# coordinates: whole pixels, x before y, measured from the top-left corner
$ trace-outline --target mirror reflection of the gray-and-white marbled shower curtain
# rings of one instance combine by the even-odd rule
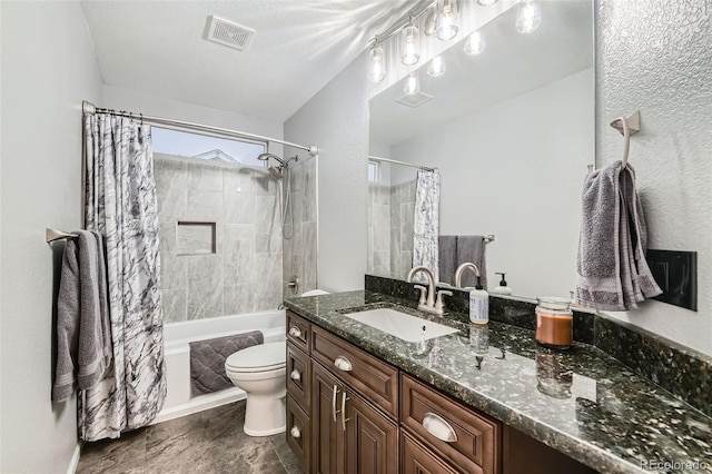
[[[437,236],[439,235],[441,175],[419,170],[415,187],[413,219],[413,266],[428,267],[438,280]],[[416,275],[416,279],[422,274]]]

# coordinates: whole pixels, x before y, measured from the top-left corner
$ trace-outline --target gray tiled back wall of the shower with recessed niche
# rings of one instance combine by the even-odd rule
[[[165,320],[277,308],[278,182],[266,169],[219,161],[154,154],[154,166]]]

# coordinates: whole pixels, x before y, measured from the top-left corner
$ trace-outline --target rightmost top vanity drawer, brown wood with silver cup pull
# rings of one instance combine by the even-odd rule
[[[400,377],[400,422],[435,452],[464,472],[501,472],[500,422],[475,413],[407,375]],[[425,428],[424,419],[439,436]],[[448,435],[451,440],[444,441]]]

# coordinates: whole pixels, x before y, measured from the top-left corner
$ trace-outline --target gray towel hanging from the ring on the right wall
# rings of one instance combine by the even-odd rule
[[[647,228],[631,165],[615,161],[584,182],[576,303],[629,310],[662,293],[645,261]]]

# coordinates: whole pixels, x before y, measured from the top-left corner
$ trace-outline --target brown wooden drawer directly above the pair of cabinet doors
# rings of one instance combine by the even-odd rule
[[[384,412],[398,416],[398,369],[317,326],[312,327],[312,356]]]

